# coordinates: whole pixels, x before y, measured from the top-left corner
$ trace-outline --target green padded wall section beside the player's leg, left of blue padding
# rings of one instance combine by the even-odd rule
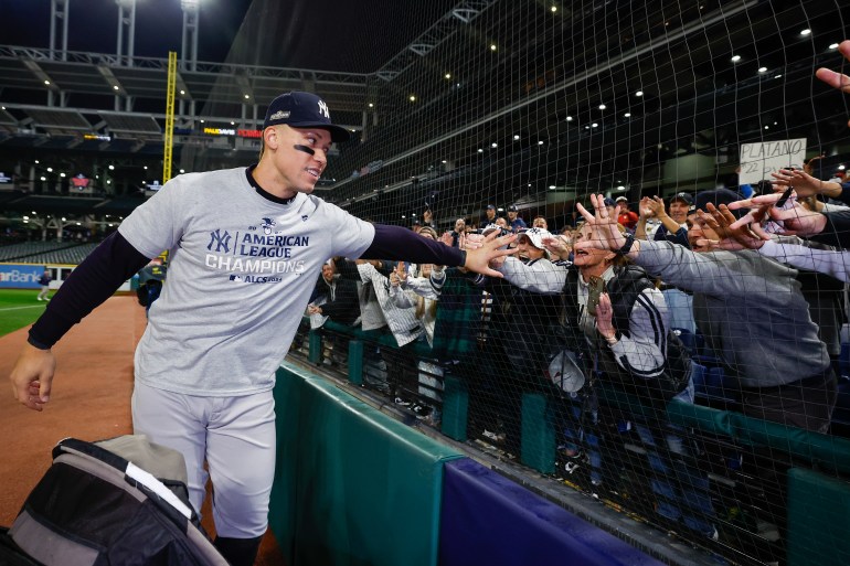
[[[275,403],[287,566],[436,565],[443,463],[463,455],[286,362]]]

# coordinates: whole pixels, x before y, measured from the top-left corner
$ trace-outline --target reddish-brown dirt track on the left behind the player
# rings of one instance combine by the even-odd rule
[[[63,438],[86,440],[130,434],[132,353],[145,331],[145,309],[135,296],[115,296],[55,346],[60,357],[51,403],[42,414],[21,407],[7,389],[0,395],[3,466],[0,467],[0,525],[11,525],[26,495],[52,463]],[[28,329],[0,338],[0,374],[9,375]],[[203,526],[214,533],[210,498]],[[280,566],[284,557],[269,531],[257,566]]]

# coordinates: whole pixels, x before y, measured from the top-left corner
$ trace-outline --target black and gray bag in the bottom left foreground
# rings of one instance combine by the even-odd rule
[[[8,534],[45,566],[227,566],[185,482],[183,456],[144,435],[67,438]]]

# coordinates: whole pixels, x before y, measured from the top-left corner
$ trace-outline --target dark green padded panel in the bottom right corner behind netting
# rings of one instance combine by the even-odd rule
[[[788,566],[850,564],[850,484],[788,470]]]

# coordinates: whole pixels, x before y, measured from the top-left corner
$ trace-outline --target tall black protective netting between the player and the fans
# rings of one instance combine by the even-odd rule
[[[360,325],[331,317],[323,345],[315,330],[295,348],[730,563],[824,560],[800,528],[847,488],[846,286],[677,231],[694,205],[773,193],[780,168],[842,180],[847,98],[814,73],[841,68],[844,23],[838,2],[461,2],[370,77],[360,116],[331,108],[357,131],[318,193],[447,243],[501,217],[564,249],[527,232],[502,280],[337,258],[332,309],[348,293]],[[597,237],[575,229],[591,193],[625,197],[638,238],[695,253],[573,249]],[[841,488],[801,490],[809,470]]]

